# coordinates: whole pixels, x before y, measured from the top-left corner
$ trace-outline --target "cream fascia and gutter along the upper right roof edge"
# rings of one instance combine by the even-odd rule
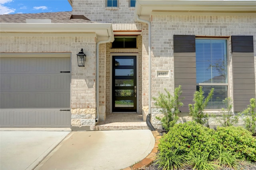
[[[256,0],[137,0],[134,20],[149,21],[152,12],[256,14]]]

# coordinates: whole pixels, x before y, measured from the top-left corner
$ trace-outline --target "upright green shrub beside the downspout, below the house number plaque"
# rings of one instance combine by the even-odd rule
[[[183,106],[183,103],[179,99],[179,96],[182,94],[182,90],[181,86],[175,88],[174,96],[172,96],[166,89],[164,90],[167,95],[159,93],[159,97],[153,99],[156,101],[155,105],[161,108],[160,111],[164,115],[164,117],[156,117],[156,119],[161,121],[162,126],[166,131],[169,131],[170,127],[177,123],[179,119],[179,107]]]

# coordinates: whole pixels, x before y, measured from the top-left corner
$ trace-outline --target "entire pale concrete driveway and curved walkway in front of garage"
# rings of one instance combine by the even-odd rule
[[[120,170],[145,158],[155,143],[148,129],[0,131],[0,137],[1,170]]]

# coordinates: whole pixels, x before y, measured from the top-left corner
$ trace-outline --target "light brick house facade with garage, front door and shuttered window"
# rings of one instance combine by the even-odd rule
[[[1,16],[1,127],[95,130],[111,113],[159,127],[153,98],[179,85],[181,121],[199,86],[214,88],[209,113],[227,97],[234,113],[255,98],[256,1],[69,2],[55,17]]]

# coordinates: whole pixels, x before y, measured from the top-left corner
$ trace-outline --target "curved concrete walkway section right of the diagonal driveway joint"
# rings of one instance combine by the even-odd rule
[[[152,151],[150,130],[70,133],[35,170],[120,170]]]

